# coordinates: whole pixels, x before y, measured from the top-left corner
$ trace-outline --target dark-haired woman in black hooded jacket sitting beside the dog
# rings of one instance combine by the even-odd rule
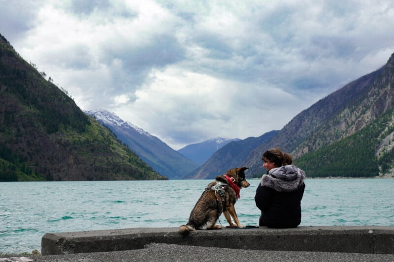
[[[265,151],[262,160],[267,175],[263,175],[255,196],[262,211],[259,226],[296,228],[301,223],[305,173],[292,165],[290,154],[278,148]]]

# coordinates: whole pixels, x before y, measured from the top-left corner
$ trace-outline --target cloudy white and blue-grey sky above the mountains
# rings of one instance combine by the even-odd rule
[[[394,53],[393,0],[0,0],[0,33],[83,110],[174,149],[261,136]]]

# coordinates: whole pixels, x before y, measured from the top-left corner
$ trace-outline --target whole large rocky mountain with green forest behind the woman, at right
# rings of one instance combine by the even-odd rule
[[[394,54],[295,116],[270,142],[243,162],[263,173],[261,154],[281,147],[309,176],[375,176],[393,173]]]

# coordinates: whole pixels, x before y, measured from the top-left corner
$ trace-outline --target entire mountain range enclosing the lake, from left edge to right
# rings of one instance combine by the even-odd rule
[[[105,110],[87,111],[0,35],[0,181],[211,179],[265,173],[271,147],[308,177],[394,177],[394,54],[259,137],[213,138],[178,151]]]

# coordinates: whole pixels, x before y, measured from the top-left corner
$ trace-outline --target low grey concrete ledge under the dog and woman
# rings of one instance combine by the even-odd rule
[[[42,255],[142,249],[150,243],[271,251],[394,254],[394,227],[298,227],[296,229],[221,229],[193,231],[183,237],[178,228],[131,228],[46,233]]]

